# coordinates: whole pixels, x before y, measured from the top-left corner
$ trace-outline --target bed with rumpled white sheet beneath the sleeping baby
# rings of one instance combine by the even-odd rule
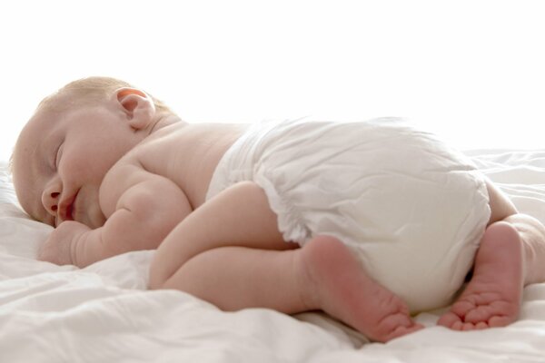
[[[545,150],[467,153],[520,211],[545,222]],[[153,251],[82,270],[35,260],[50,231],[21,211],[1,163],[2,362],[545,362],[545,283],[524,290],[507,328],[451,331],[435,326],[437,310],[416,317],[427,329],[379,344],[318,312],[227,313],[180,291],[146,290]]]

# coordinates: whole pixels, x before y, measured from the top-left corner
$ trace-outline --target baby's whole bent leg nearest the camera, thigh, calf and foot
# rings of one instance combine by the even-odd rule
[[[421,328],[338,240],[287,246],[263,190],[239,183],[169,234],[154,257],[150,285],[187,291],[221,309],[322,309],[379,341]]]

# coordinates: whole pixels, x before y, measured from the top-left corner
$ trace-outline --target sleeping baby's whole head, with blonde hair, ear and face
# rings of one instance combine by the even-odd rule
[[[129,83],[91,77],[47,96],[15,144],[12,171],[21,206],[56,225],[104,224],[98,191],[104,175],[151,132],[179,120]]]

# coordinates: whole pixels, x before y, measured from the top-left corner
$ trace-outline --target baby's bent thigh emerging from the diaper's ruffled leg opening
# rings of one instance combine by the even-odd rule
[[[239,182],[220,192],[179,223],[154,256],[150,285],[157,289],[194,256],[222,247],[288,250],[276,214],[261,187]]]

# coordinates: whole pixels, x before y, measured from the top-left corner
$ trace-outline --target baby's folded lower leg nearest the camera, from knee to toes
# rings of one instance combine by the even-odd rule
[[[223,310],[323,310],[375,341],[421,329],[406,305],[371,280],[350,251],[320,236],[297,250],[222,247],[188,260],[166,280]]]

